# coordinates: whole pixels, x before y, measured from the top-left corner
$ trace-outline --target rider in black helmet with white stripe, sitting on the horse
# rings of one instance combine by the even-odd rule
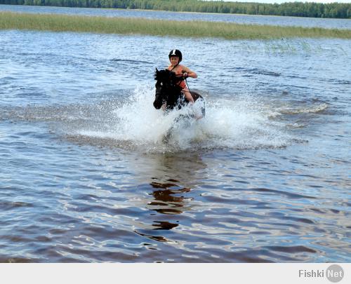
[[[185,79],[187,79],[187,77],[197,78],[197,74],[195,72],[192,72],[192,70],[190,70],[186,66],[179,64],[183,59],[180,50],[171,50],[171,52],[168,54],[168,58],[169,62],[171,62],[171,64],[167,67],[168,70],[173,71],[174,73],[176,73],[177,76],[184,77]],[[187,98],[187,100],[190,102],[190,104],[193,104],[194,99],[190,94],[190,90],[187,88],[185,80],[180,81],[178,84],[181,88],[183,88],[182,92]]]

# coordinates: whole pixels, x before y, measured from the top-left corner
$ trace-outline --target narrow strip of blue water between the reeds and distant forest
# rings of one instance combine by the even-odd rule
[[[324,27],[327,29],[351,29],[351,19],[322,19],[219,13],[179,13],[170,11],[140,11],[129,9],[69,8],[22,5],[0,5],[0,11],[12,11],[17,13],[93,15],[103,17],[132,17],[161,20],[201,20],[211,22],[237,22],[239,24],[246,25],[279,25],[298,27]]]

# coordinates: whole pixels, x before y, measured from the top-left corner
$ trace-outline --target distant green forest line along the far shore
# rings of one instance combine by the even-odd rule
[[[343,3],[262,4],[198,0],[0,0],[0,4],[351,18],[351,4]]]

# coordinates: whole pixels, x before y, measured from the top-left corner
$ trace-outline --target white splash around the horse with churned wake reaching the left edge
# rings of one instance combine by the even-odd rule
[[[143,86],[94,104],[12,107],[4,109],[0,119],[44,122],[51,133],[78,144],[145,153],[286,147],[295,141],[286,133],[291,121],[282,119],[284,111],[277,102],[250,95],[206,95],[203,119],[179,119],[201,114],[203,104],[195,102],[165,115],[153,107],[154,92]]]

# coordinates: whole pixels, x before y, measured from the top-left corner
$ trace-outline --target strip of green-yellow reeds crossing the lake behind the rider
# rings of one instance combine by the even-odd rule
[[[155,36],[218,37],[224,39],[280,39],[329,37],[351,39],[351,30],[239,25],[225,22],[168,21],[140,18],[105,18],[78,15],[0,13],[0,29]]]

